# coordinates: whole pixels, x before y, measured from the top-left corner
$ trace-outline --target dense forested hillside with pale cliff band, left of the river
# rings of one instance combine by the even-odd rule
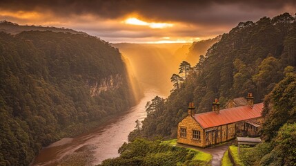
[[[0,165],[95,127],[135,100],[117,48],[84,34],[0,32]]]

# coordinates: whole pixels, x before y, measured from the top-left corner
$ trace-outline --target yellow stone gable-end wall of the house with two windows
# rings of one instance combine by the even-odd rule
[[[181,127],[186,128],[186,138],[180,136]],[[200,131],[200,140],[193,139],[193,130]],[[204,147],[204,130],[201,129],[199,124],[193,119],[192,116],[187,116],[186,118],[181,120],[181,122],[179,122],[177,129],[177,142],[186,145]]]

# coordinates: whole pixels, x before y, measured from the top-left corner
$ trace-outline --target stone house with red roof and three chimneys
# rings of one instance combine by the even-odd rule
[[[254,104],[252,93],[248,93],[246,101],[246,105],[220,110],[216,99],[212,111],[197,114],[193,103],[189,103],[188,116],[178,123],[177,142],[208,147],[236,136],[259,136],[264,105]]]

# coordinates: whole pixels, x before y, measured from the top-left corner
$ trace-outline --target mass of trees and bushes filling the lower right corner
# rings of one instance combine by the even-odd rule
[[[285,69],[286,77],[264,101],[265,143],[241,154],[246,165],[295,165],[296,164],[296,73]]]

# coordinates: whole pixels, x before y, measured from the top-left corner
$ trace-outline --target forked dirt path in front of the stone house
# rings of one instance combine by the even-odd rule
[[[221,160],[223,158],[223,155],[224,155],[225,151],[232,144],[233,144],[233,141],[230,141],[230,142],[226,142],[223,145],[216,145],[216,146],[213,146],[213,147],[207,147],[205,149],[200,148],[200,147],[193,147],[193,146],[189,146],[189,145],[181,145],[181,144],[178,144],[177,146],[190,147],[190,148],[197,149],[199,151],[204,151],[205,153],[211,154],[213,156],[213,158],[211,160],[211,164],[213,166],[220,166],[221,165]]]

